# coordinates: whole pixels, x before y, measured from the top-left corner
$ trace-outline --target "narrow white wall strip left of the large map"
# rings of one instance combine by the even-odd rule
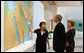
[[[1,51],[4,51],[4,1],[1,1]]]

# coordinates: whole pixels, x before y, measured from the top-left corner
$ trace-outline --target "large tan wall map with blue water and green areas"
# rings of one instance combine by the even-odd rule
[[[32,27],[31,1],[4,1],[4,51],[32,39],[27,20]]]

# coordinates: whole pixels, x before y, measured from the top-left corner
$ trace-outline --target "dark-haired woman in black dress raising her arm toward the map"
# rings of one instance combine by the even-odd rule
[[[45,30],[46,23],[41,22],[39,25],[40,29],[32,30],[29,20],[27,22],[29,24],[30,32],[37,34],[36,52],[46,52],[46,47],[47,47],[46,42],[48,43],[48,49],[50,49],[49,39],[48,39],[48,31]]]

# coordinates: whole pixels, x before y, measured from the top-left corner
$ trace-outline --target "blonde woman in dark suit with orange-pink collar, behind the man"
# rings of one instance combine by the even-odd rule
[[[75,24],[75,22],[73,20],[69,20],[68,21],[69,29],[67,30],[67,33],[66,33],[66,52],[74,52],[74,48],[75,48],[75,41],[74,41],[75,29],[74,29],[74,24]]]

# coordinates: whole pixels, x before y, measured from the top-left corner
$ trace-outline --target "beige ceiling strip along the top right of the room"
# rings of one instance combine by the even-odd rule
[[[71,7],[71,6],[83,6],[83,1],[41,1],[47,6],[57,6],[57,7]]]

